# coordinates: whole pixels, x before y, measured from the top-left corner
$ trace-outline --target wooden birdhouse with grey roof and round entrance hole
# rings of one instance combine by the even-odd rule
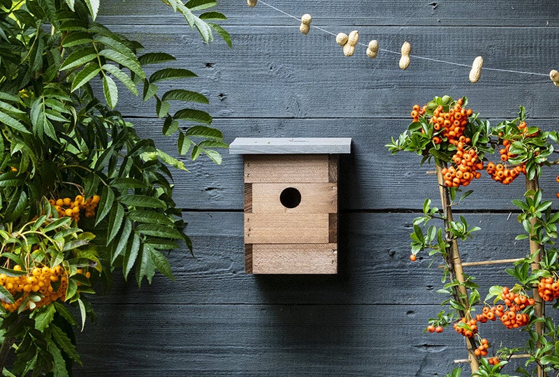
[[[237,138],[245,156],[245,272],[337,273],[338,155],[350,138]]]

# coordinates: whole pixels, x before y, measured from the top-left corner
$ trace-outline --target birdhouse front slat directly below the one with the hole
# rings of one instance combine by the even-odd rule
[[[329,214],[245,214],[245,244],[328,244]]]

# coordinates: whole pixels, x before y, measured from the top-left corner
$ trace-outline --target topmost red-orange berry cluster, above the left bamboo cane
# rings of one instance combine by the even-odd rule
[[[429,119],[433,123],[433,130],[437,134],[433,137],[433,142],[438,144],[442,141],[440,135],[443,138],[447,138],[449,143],[453,145],[458,144],[458,139],[464,134],[467,125],[467,117],[472,115],[472,109],[462,108],[463,101],[462,98],[456,101],[456,104],[452,108],[449,108],[448,112],[443,111],[442,106],[438,106],[433,111],[433,117]],[[440,133],[437,131],[441,131]],[[437,138],[437,140],[435,140]]]

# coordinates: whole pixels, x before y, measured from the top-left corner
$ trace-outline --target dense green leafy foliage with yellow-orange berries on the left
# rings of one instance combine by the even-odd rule
[[[231,46],[212,22],[226,20],[208,10],[216,1],[161,1],[205,43],[213,30]],[[147,75],[146,66],[175,58],[143,53],[138,41],[95,22],[99,8],[97,0],[0,0],[2,367],[15,351],[6,375],[67,376],[80,357],[77,322],[61,302],[78,308],[83,326],[93,318],[84,294],[94,293],[95,281],[110,286],[117,268],[125,279],[133,273],[138,286],[157,271],[172,279],[166,253],[180,243],[191,248],[169,169],[186,170],[184,163],[115,110],[122,91],[155,103],[178,154],[221,163],[216,149],[227,147],[210,114],[197,108],[208,98],[159,92],[161,83],[196,74],[162,66]],[[171,103],[179,109],[171,112]]]

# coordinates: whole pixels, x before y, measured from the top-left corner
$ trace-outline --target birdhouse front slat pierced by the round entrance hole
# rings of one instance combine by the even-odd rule
[[[286,187],[295,188],[300,193],[300,204],[294,208],[285,207],[280,200],[280,195]],[[337,184],[335,183],[252,184],[250,196],[254,214],[337,212]]]

